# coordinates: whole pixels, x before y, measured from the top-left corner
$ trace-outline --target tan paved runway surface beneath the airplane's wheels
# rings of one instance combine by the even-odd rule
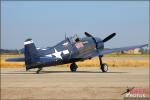
[[[123,99],[127,87],[149,88],[149,67],[1,68],[1,99]]]

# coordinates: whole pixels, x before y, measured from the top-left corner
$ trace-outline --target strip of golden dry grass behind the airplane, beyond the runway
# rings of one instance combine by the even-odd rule
[[[13,58],[13,57],[22,57],[23,55],[1,55],[1,67],[23,67],[24,62],[6,62],[5,59],[7,58]],[[135,59],[124,59],[124,60],[119,60],[119,59],[109,59],[109,57],[105,57],[107,59],[104,59],[104,63],[106,62],[110,67],[119,67],[119,66],[132,66],[132,67],[141,67],[141,66],[149,66],[149,61],[148,60],[135,60]],[[119,58],[119,57],[118,57]],[[65,64],[65,65],[60,65],[64,67],[69,67],[70,64]],[[91,60],[86,60],[83,62],[77,62],[77,65],[79,67],[98,67],[99,66],[99,59],[97,57],[91,59]]]

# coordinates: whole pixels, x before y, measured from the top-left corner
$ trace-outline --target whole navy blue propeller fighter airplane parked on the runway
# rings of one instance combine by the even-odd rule
[[[76,62],[98,56],[101,71],[107,72],[108,65],[102,62],[103,55],[148,45],[135,45],[105,50],[104,43],[113,38],[116,33],[112,33],[103,40],[92,36],[88,32],[84,34],[86,36],[84,38],[79,38],[77,35],[66,37],[65,40],[55,46],[47,48],[36,48],[32,39],[26,39],[24,41],[24,58],[9,58],[6,61],[25,61],[26,71],[38,68],[37,74],[43,67],[71,63],[70,70],[76,72],[78,68]]]

